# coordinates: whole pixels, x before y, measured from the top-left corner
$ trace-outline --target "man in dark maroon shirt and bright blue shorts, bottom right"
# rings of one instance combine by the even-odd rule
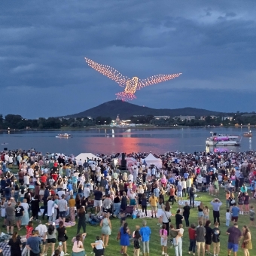
[[[233,227],[230,227],[226,233],[228,235],[227,255],[230,255],[231,250],[233,250],[233,256],[236,256],[239,247],[239,239],[242,238],[242,233],[238,228],[238,224],[233,224]]]

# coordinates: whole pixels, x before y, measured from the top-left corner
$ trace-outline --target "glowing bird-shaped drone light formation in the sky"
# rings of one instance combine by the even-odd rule
[[[159,84],[164,81],[168,81],[174,78],[178,78],[182,73],[172,74],[172,75],[154,75],[146,79],[139,79],[138,77],[128,78],[116,69],[111,68],[110,66],[105,66],[94,62],[92,59],[84,58],[88,66],[95,69],[97,72],[102,75],[107,76],[108,78],[117,82],[120,87],[125,87],[123,92],[116,93],[117,99],[123,101],[136,99],[135,93],[136,90],[140,90],[143,87],[152,84]]]

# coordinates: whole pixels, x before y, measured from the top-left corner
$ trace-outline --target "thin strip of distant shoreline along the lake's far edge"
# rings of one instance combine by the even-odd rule
[[[251,127],[255,127],[256,125],[251,125]],[[151,126],[151,125],[142,125],[142,126],[133,126],[133,127],[111,127],[111,126],[88,126],[88,127],[83,127],[83,128],[72,128],[72,127],[62,127],[59,129],[7,129],[7,130],[0,130],[1,132],[36,132],[36,131],[66,131],[66,130],[135,130],[135,129],[188,129],[188,128],[207,128],[207,129],[215,129],[215,128],[230,128],[230,127],[235,127],[235,128],[243,128],[243,127],[248,127],[248,125],[243,125],[243,126]]]

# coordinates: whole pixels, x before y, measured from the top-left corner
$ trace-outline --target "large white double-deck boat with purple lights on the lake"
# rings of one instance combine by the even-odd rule
[[[212,133],[212,136],[206,139],[206,146],[239,146],[241,144],[241,139],[239,136],[232,136],[229,134],[219,134]]]

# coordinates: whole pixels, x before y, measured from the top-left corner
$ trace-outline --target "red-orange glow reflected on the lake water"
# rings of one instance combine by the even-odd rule
[[[169,151],[175,139],[169,138],[126,138],[126,137],[87,137],[82,139],[84,152],[119,153],[149,152],[163,153]]]

